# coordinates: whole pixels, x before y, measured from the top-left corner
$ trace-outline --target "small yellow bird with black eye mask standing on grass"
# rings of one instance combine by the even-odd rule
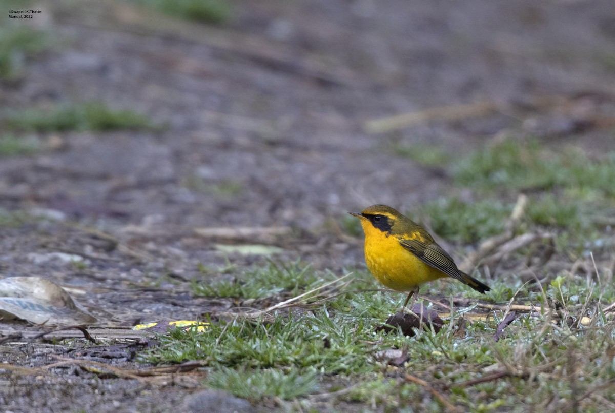
[[[372,205],[361,212],[348,212],[359,217],[365,232],[365,262],[371,274],[395,291],[410,291],[416,300],[419,285],[442,277],[453,277],[485,294],[490,287],[457,268],[425,228],[386,205]]]

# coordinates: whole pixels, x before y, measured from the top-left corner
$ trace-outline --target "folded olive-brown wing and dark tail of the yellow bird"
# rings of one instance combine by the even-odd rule
[[[446,275],[458,279],[478,292],[485,293],[485,291],[491,290],[486,284],[481,283],[474,277],[459,270],[451,256],[438,244],[432,243],[426,245],[416,239],[400,239],[399,243],[402,244],[402,247],[414,254],[416,258],[429,265],[429,267],[440,270]]]

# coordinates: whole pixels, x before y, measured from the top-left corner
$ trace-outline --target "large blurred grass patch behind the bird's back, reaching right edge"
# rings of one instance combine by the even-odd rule
[[[519,192],[530,197],[521,230],[544,228],[557,234],[559,251],[581,254],[608,237],[615,202],[615,152],[590,158],[581,148],[549,150],[536,140],[505,140],[460,159],[456,182],[481,201],[445,199],[427,207],[438,235],[475,243],[503,229]],[[607,231],[605,233],[605,231]],[[602,243],[604,244],[604,243]]]

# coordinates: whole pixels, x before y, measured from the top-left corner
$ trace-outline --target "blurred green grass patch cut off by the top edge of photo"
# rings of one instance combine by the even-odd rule
[[[150,0],[142,3],[164,14],[201,23],[224,23],[232,15],[228,0]]]

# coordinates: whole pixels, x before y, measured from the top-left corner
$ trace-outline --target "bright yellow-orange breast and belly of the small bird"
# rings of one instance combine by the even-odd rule
[[[387,236],[370,223],[363,225],[363,230],[367,268],[385,286],[396,291],[411,291],[418,284],[446,276],[416,258],[395,236]]]

